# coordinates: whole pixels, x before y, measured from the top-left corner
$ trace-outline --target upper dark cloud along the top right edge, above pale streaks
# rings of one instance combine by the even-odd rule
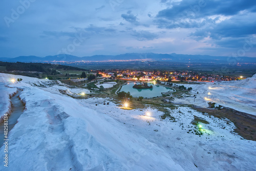
[[[219,19],[210,19],[209,16],[231,16],[239,14],[243,10],[254,11],[256,1],[218,1],[218,0],[183,0],[158,12],[155,23],[159,28],[201,28],[206,24],[215,24]]]

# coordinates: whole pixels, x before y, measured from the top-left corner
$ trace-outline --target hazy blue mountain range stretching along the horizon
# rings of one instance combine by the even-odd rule
[[[183,55],[183,54],[156,54],[156,53],[125,53],[120,55],[94,55],[78,57],[73,55],[54,55],[46,57],[38,56],[18,56],[15,58],[0,58],[0,61],[7,62],[48,62],[48,61],[109,61],[109,60],[154,60],[154,61],[172,61],[183,63],[256,63],[256,57],[227,57],[227,56],[209,56],[209,55]]]

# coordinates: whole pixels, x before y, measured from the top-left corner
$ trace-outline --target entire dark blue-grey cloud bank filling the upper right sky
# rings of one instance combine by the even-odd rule
[[[196,28],[189,36],[212,45],[211,50],[241,48],[246,38],[256,34],[256,1],[183,0],[172,5],[158,12],[156,25],[167,29]]]

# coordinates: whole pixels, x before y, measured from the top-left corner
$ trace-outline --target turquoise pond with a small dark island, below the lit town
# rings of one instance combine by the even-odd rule
[[[144,98],[160,97],[162,96],[161,93],[174,92],[171,88],[155,85],[153,83],[148,83],[148,86],[153,86],[153,89],[135,89],[133,88],[134,84],[135,82],[128,82],[122,86],[120,92],[130,92],[133,97],[142,96]]]

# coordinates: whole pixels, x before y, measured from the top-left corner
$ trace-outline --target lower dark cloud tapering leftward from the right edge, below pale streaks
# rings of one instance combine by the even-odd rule
[[[256,14],[233,16],[221,23],[197,29],[190,36],[198,41],[209,37],[210,39],[205,41],[218,48],[243,48],[245,41],[256,34],[254,18]]]

